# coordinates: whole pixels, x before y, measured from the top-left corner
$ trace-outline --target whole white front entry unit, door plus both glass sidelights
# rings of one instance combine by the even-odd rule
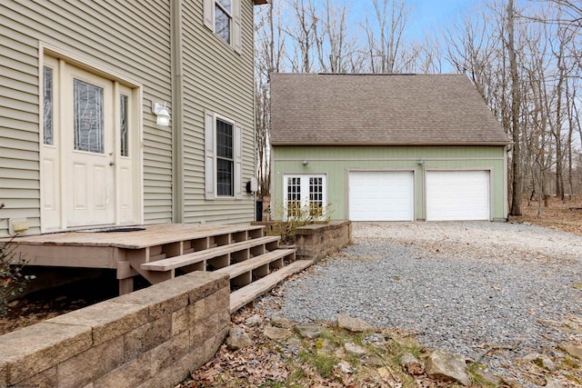
[[[136,88],[44,58],[41,229],[140,224]]]

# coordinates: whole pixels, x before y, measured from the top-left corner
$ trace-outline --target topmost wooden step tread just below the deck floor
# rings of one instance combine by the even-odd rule
[[[253,238],[239,243],[226,244],[209,248],[204,251],[197,251],[191,254],[182,254],[179,256],[168,257],[167,259],[156,260],[141,264],[140,267],[146,271],[170,271],[176,268],[184,267],[190,264],[204,262],[205,260],[215,258],[224,254],[232,254],[235,252],[244,251],[246,249],[254,248],[263,244],[276,243],[280,239],[279,236],[266,236]]]

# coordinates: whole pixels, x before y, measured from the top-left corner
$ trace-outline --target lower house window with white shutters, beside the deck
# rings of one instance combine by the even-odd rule
[[[242,127],[206,112],[206,199],[242,198]]]

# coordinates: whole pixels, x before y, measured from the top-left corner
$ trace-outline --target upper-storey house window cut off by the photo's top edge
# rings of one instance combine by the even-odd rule
[[[204,0],[204,24],[241,52],[241,0]]]

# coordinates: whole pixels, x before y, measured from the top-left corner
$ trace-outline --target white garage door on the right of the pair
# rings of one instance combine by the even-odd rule
[[[426,172],[426,221],[488,219],[488,171]]]

